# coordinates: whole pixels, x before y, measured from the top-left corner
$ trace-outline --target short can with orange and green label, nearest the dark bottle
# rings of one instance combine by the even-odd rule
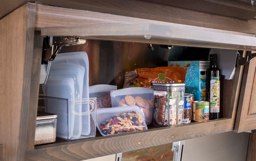
[[[209,120],[209,101],[194,101],[193,117],[194,121],[202,122]]]

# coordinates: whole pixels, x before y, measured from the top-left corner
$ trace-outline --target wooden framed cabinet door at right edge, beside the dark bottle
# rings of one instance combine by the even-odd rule
[[[235,132],[256,129],[256,57],[245,66]]]

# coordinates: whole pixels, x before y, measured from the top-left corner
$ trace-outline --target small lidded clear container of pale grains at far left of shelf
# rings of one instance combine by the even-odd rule
[[[55,142],[57,115],[38,112],[36,117],[35,145]]]

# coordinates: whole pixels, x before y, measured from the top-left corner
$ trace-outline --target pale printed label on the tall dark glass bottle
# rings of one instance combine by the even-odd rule
[[[210,112],[220,112],[220,77],[211,77],[210,82]]]

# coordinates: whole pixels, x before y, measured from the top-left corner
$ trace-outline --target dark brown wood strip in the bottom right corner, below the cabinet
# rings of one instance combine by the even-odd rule
[[[250,133],[246,161],[256,160],[256,133]]]

